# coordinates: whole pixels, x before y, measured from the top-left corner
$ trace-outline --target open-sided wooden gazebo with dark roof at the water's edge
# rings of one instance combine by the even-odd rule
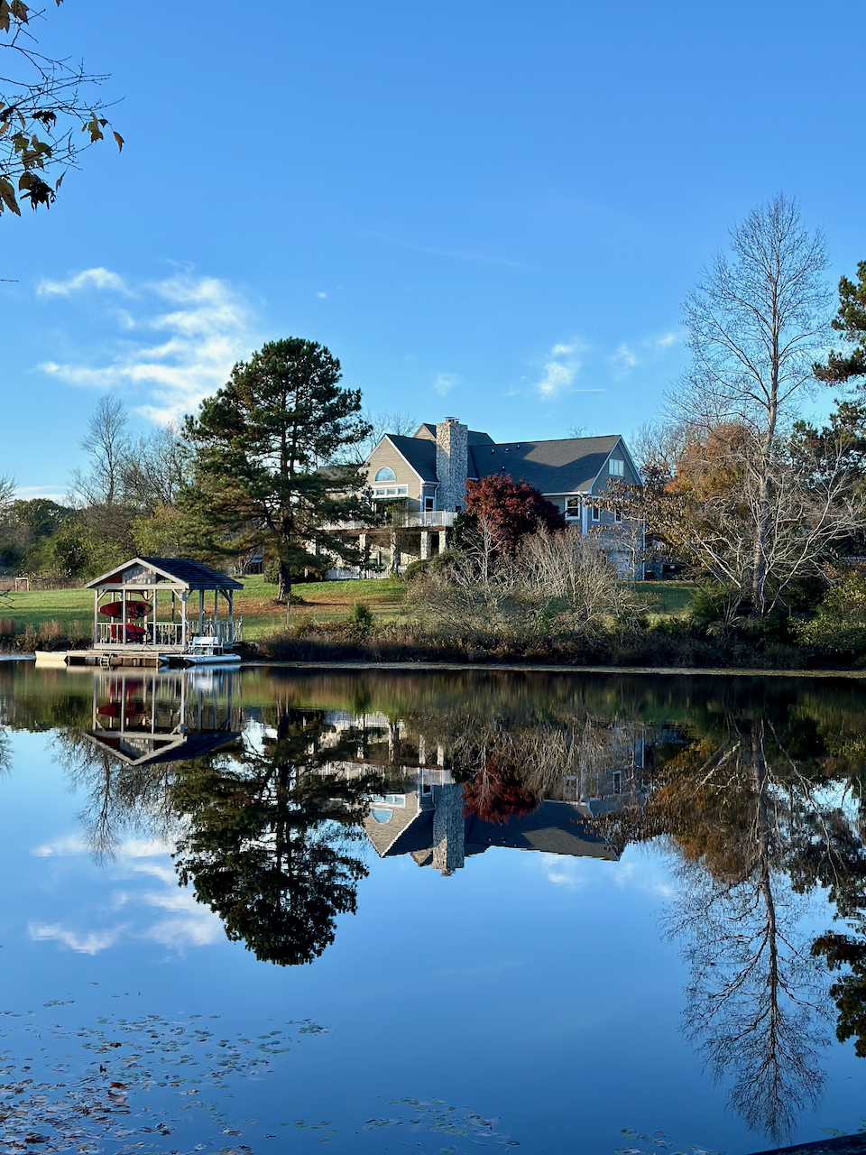
[[[233,605],[234,590],[244,587],[201,561],[132,558],[87,588],[94,590],[94,648],[103,653],[182,654],[195,636],[223,646],[244,640]]]

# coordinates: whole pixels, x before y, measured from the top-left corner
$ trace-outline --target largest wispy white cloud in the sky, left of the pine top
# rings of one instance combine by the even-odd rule
[[[96,271],[115,276],[105,269],[89,269],[79,277]],[[120,277],[117,281],[122,285]],[[125,288],[118,291],[127,292]],[[112,314],[126,336],[118,337],[107,364],[48,360],[39,367],[68,385],[127,389],[144,417],[177,420],[224,385],[232,365],[248,356],[255,343],[253,312],[227,282],[188,273],[141,285],[135,296],[141,303],[136,310]],[[129,334],[158,334],[162,340],[135,341]]]

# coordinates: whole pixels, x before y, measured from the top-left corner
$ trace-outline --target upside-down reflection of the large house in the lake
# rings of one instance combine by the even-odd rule
[[[330,772],[351,775],[376,768],[389,783],[390,789],[369,798],[364,820],[379,856],[408,854],[419,866],[432,865],[446,874],[490,847],[614,862],[622,847],[599,830],[595,818],[626,802],[641,804],[644,797],[643,726],[599,726],[596,740],[584,742],[574,755],[576,765],[562,767],[536,808],[491,822],[464,815],[463,787],[454,782],[441,743],[385,715],[333,711],[326,721],[320,750],[336,745],[348,731],[358,737],[356,758],[330,763]]]

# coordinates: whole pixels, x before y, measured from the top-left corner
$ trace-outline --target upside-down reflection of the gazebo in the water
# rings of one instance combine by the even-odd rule
[[[240,737],[230,670],[94,675],[88,742],[127,766],[199,758]]]

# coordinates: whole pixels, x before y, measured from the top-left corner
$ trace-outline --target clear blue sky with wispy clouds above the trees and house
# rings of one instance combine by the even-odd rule
[[[374,410],[628,434],[754,203],[799,198],[834,282],[866,258],[864,32],[851,0],[66,0],[42,43],[112,73],[127,146],[0,217],[0,472],[62,493],[100,392],[145,430],[289,335]]]

